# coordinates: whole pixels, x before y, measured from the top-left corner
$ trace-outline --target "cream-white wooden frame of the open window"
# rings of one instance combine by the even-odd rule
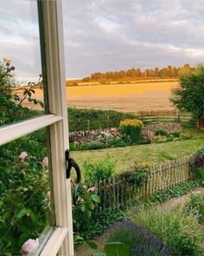
[[[66,179],[68,148],[66,75],[61,0],[38,0],[43,73],[47,75],[48,113],[0,128],[0,146],[50,126],[51,166],[56,229],[41,251],[42,256],[73,256],[71,182]],[[43,77],[44,79],[45,77]]]

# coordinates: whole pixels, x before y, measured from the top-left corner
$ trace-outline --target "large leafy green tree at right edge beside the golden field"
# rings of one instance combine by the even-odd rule
[[[173,89],[171,102],[176,108],[192,112],[196,117],[204,115],[204,67],[195,72],[181,75],[180,86]]]

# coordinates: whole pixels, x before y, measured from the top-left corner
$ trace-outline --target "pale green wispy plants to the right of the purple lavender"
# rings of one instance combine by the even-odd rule
[[[141,208],[133,218],[169,246],[173,255],[201,255],[204,228],[182,208],[165,213],[155,207]]]

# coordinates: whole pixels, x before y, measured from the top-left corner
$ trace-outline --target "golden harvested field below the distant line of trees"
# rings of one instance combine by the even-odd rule
[[[124,112],[172,110],[171,89],[178,82],[134,82],[67,87],[67,105],[76,108],[112,109]],[[42,90],[35,89],[42,98]]]

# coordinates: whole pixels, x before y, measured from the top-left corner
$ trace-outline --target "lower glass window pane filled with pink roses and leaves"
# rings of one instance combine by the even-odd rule
[[[1,255],[35,250],[54,226],[47,135],[43,128],[0,148]]]

